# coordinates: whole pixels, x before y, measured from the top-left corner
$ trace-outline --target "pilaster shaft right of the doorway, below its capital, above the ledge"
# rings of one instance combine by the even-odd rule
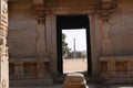
[[[101,56],[111,56],[113,55],[112,41],[111,41],[111,23],[108,19],[100,19],[101,25]]]

